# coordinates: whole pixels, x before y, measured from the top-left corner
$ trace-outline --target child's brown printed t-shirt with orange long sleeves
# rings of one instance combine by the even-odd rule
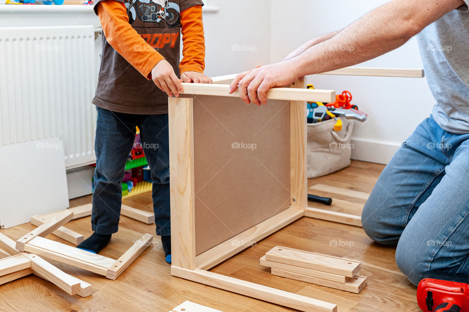
[[[168,96],[150,80],[150,72],[162,59],[170,62],[178,77],[179,69],[203,72],[201,5],[201,0],[96,0],[95,11],[106,36],[103,35],[98,87],[92,103],[122,113],[168,113]],[[131,28],[119,27],[123,22]],[[181,31],[185,44],[179,68]],[[116,32],[120,32],[119,36]],[[119,40],[112,40],[113,37]],[[122,42],[123,38],[128,42]]]

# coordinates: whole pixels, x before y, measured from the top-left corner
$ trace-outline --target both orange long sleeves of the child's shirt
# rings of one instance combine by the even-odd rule
[[[165,57],[132,28],[125,4],[115,0],[104,0],[97,4],[96,10],[107,42],[144,77],[151,79],[151,70]],[[201,5],[194,5],[181,12],[181,27],[183,59],[179,64],[179,70],[181,73],[185,71],[203,73],[205,38]]]

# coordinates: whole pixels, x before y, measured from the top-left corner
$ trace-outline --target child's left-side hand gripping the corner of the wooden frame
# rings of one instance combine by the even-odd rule
[[[171,64],[166,60],[161,60],[151,70],[151,79],[158,88],[165,91],[169,97],[173,94],[177,98],[179,92],[184,92],[181,81],[177,78]]]

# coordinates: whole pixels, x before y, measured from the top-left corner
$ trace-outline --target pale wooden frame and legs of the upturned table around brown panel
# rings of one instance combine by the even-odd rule
[[[408,78],[424,77],[422,69],[360,67],[348,67],[323,74]],[[237,244],[237,242],[255,243],[303,216],[317,217],[319,219],[361,226],[361,220],[358,216],[308,208],[307,179],[305,174],[307,165],[305,101],[334,102],[335,91],[317,89],[306,90],[304,89],[304,81],[297,81],[293,83],[290,88],[274,88],[267,93],[268,99],[290,101],[290,208],[277,213],[250,229],[235,233],[232,238],[219,243],[201,254],[196,254],[193,112],[194,105],[197,105],[197,103],[195,103],[194,99],[196,99],[198,95],[219,97],[220,101],[223,101],[226,97],[238,97],[238,91],[235,91],[233,94],[228,94],[229,85],[224,84],[231,83],[234,78],[235,75],[215,77],[213,78],[214,84],[183,83],[185,96],[169,99],[171,274],[300,311],[336,312],[337,306],[332,303],[287,291],[280,291],[271,287],[242,281],[209,271],[215,265],[251,246]],[[187,95],[190,95],[190,97],[186,97]],[[243,105],[243,103],[239,101],[239,105]],[[254,207],[254,209],[255,208],[256,207]]]

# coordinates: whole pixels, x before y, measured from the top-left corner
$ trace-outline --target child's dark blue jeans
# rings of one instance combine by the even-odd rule
[[[135,140],[135,126],[138,126],[153,182],[156,234],[171,235],[168,115],[135,115],[97,109],[92,229],[98,234],[117,232],[122,204],[121,182]]]

